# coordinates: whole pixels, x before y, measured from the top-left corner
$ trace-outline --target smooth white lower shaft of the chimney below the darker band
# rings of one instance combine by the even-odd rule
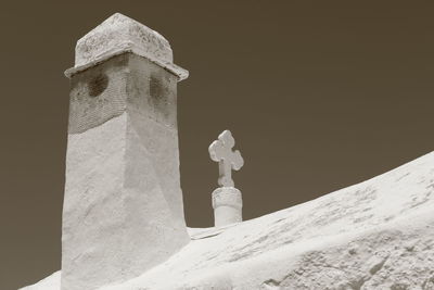
[[[181,197],[179,185],[169,178],[162,184],[157,173],[158,165],[164,165],[169,176],[171,164],[154,162],[162,151],[151,156],[146,143],[161,141],[158,150],[167,151],[161,154],[177,162],[177,144],[170,142],[176,133],[150,119],[133,118],[124,113],[68,136],[64,289],[94,289],[135,277],[189,241],[183,215],[177,214],[182,204],[169,204],[165,197],[170,192]],[[146,130],[153,130],[153,140],[146,138]]]

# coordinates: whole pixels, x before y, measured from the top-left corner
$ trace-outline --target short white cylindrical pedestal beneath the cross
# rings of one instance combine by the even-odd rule
[[[221,227],[243,220],[241,191],[234,187],[220,187],[213,191],[214,225]]]

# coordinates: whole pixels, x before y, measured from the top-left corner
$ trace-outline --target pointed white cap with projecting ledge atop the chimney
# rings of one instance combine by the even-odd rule
[[[114,55],[133,52],[177,75],[179,80],[189,72],[174,64],[169,42],[157,31],[115,13],[77,41],[75,66],[65,72],[72,76]]]

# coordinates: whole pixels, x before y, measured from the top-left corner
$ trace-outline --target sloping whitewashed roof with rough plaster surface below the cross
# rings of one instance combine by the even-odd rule
[[[101,289],[434,289],[433,209],[430,153],[283,211],[190,229],[165,263]],[[49,279],[27,290],[58,290]]]

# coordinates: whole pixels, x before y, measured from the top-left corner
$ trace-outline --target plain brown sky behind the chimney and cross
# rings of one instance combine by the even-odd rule
[[[234,174],[245,218],[432,151],[433,2],[359,2],[3,1],[0,289],[60,268],[63,72],[77,39],[115,12],[164,35],[190,71],[178,86],[190,226],[213,223],[207,147],[226,128],[245,160]]]

